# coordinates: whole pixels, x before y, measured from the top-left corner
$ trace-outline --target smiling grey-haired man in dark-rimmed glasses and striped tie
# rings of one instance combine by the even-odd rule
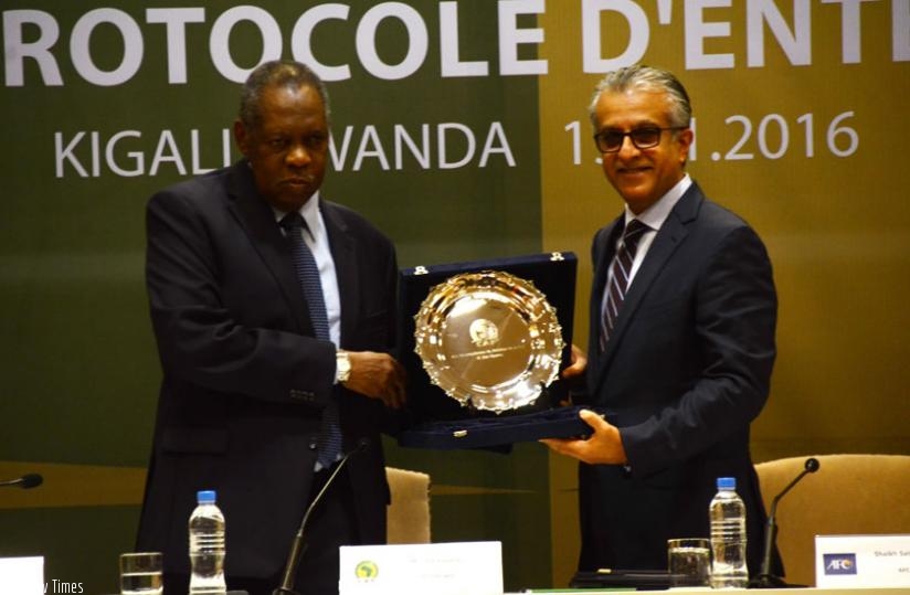
[[[625,210],[594,237],[589,351],[573,347],[563,375],[606,414],[581,412],[588,439],[543,440],[581,461],[579,570],[666,570],[668,539],[709,536],[716,479],[729,476],[754,574],[766,516],[749,426],[775,357],[768,253],[686,172],[691,107],[673,74],[607,74],[590,116]]]

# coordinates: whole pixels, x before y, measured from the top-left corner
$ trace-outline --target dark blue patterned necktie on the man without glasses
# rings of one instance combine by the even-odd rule
[[[329,318],[326,314],[326,300],[322,297],[322,284],[319,280],[319,267],[316,265],[316,258],[313,257],[309,246],[304,242],[303,231],[309,232],[309,227],[300,213],[296,211],[282,219],[282,227],[285,229],[290,242],[294,270],[297,273],[304,298],[307,300],[313,331],[317,339],[330,341]],[[338,403],[335,397],[329,399],[322,411],[318,448],[319,465],[324,468],[330,467],[341,453],[341,427],[338,422]]]

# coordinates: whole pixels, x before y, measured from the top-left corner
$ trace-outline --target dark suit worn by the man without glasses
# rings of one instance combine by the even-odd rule
[[[321,213],[338,275],[341,348],[389,351],[394,337],[392,244],[338,204]],[[149,201],[146,263],[163,369],[138,535],[189,572],[195,491],[214,489],[228,521],[226,573],[273,576],[307,504],[321,410],[339,399],[363,543],[385,539],[389,487],[380,401],[334,386],[335,347],[313,338],[289,245],[245,162]],[[318,544],[310,544],[317,546]]]

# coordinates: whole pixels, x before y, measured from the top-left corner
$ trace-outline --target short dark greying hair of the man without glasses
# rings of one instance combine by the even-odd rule
[[[240,121],[255,130],[262,121],[260,100],[262,93],[271,87],[313,87],[319,93],[329,119],[329,93],[319,75],[306,64],[290,60],[275,60],[260,64],[243,84],[240,94]]]

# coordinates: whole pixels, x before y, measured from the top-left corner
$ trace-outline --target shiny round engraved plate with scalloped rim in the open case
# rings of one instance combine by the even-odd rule
[[[414,316],[414,351],[463,406],[502,413],[532,404],[559,375],[562,329],[533,283],[498,270],[433,287]]]

